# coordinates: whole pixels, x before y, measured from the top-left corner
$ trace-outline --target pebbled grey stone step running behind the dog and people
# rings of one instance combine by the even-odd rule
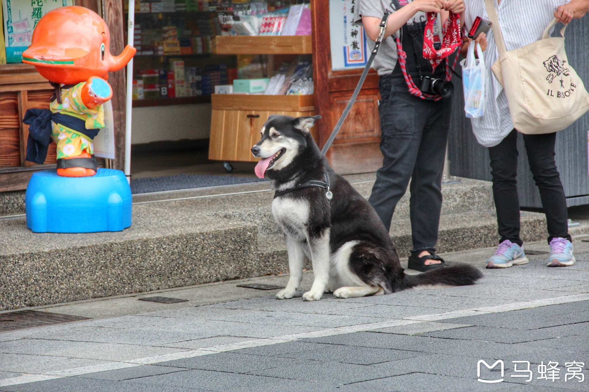
[[[368,196],[373,175],[349,180]],[[133,226],[118,233],[32,233],[22,216],[0,219],[0,309],[286,272],[269,186],[135,195]],[[441,250],[495,242],[489,183],[463,180],[444,185],[443,193]],[[408,216],[407,203],[401,200],[396,217]],[[544,225],[541,215],[530,213],[529,220],[535,229],[524,232]],[[391,234],[401,254],[410,233],[407,219],[395,221]]]

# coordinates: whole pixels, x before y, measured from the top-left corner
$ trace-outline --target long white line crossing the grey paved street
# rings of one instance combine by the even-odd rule
[[[398,327],[409,324],[427,323],[428,321],[439,321],[456,319],[457,317],[468,317],[477,314],[502,313],[505,311],[529,309],[533,307],[557,305],[589,300],[589,294],[575,294],[573,296],[562,296],[540,300],[522,301],[499,306],[485,306],[476,309],[452,310],[445,313],[422,314],[421,316],[405,317],[403,319],[376,321],[375,323],[358,324],[355,326],[345,326],[336,328],[326,328],[322,330],[295,333],[290,335],[274,336],[266,339],[252,339],[232,344],[220,344],[219,346],[203,347],[198,350],[180,351],[178,353],[161,354],[153,357],[138,358],[128,361],[111,362],[105,364],[77,367],[67,370],[51,371],[47,374],[22,374],[22,376],[4,378],[0,380],[0,387],[9,385],[34,383],[35,381],[51,380],[53,378],[80,376],[81,374],[97,373],[98,371],[115,370],[125,367],[141,366],[144,364],[154,364],[164,361],[177,359],[192,358],[197,356],[222,353],[240,349],[249,349],[252,347],[262,347],[269,344],[287,343],[301,339],[312,339],[315,337],[336,336],[347,333],[372,331],[388,327]]]

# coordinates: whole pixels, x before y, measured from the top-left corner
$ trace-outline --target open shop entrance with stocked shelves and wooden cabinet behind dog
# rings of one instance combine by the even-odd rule
[[[133,193],[263,181],[268,116],[314,113],[310,38],[300,0],[136,2]]]

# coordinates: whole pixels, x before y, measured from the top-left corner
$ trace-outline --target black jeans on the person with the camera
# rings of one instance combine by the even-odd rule
[[[395,206],[411,179],[413,252],[433,253],[452,101],[417,98],[409,93],[404,79],[391,75],[380,77],[379,88],[383,162],[368,201],[389,230]]]

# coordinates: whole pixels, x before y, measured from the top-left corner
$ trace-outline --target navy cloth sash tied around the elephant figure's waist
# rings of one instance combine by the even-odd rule
[[[86,129],[86,122],[80,118],[64,115],[63,113],[51,113],[49,109],[28,109],[22,122],[29,125],[29,137],[27,139],[27,158],[29,162],[42,164],[47,158],[47,149],[52,142],[51,121],[67,128],[73,129],[82,135],[94,139],[100,129]]]

